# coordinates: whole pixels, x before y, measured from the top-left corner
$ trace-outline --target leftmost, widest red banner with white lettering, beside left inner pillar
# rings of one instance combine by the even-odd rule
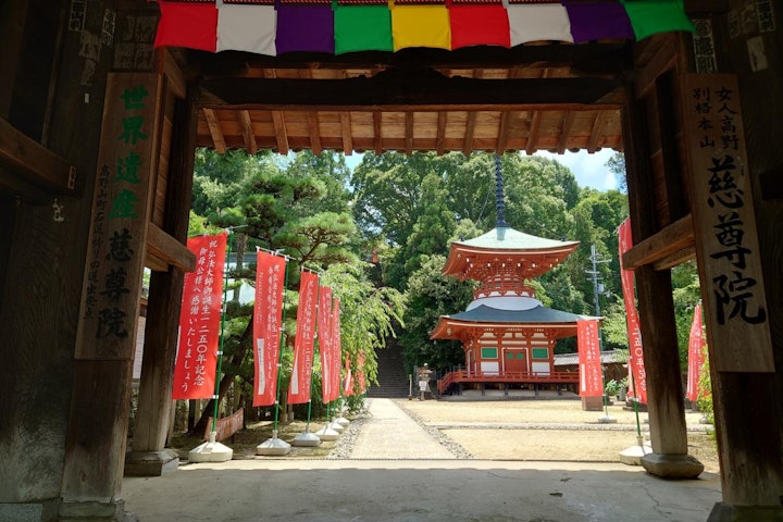
[[[188,239],[196,270],[185,274],[173,399],[208,399],[215,391],[226,233]]]

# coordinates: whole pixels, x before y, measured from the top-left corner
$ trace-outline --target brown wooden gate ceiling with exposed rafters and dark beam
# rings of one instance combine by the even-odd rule
[[[627,41],[278,58],[191,53],[197,145],[279,153],[622,150]]]

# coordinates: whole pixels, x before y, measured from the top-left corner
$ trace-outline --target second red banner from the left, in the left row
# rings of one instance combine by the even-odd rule
[[[277,400],[277,362],[279,361],[286,260],[262,251],[257,252],[256,257],[253,406],[270,406]]]

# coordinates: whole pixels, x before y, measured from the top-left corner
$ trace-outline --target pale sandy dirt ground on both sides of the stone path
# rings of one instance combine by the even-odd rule
[[[370,399],[372,400],[372,399]],[[617,422],[602,424],[604,411],[583,411],[580,400],[504,400],[504,401],[395,401],[412,414],[420,424],[438,430],[459,444],[474,458],[520,461],[617,462],[620,451],[636,444],[636,414],[610,405],[607,413]],[[346,414],[351,419],[350,414]],[[649,442],[647,413],[639,412],[639,427]],[[699,424],[700,413],[686,410],[688,452],[696,457],[705,471],[718,473],[714,437]],[[372,418],[363,422],[372,422]],[[304,430],[304,422],[278,425],[278,437],[294,438]],[[313,421],[310,430],[323,426]],[[359,427],[360,428],[360,427]],[[271,436],[270,422],[248,425],[226,442],[234,449],[234,459],[256,458],[256,446]],[[290,459],[325,459],[337,443],[323,443],[318,448],[291,448]],[[199,439],[183,435],[172,440],[172,447],[186,459]]]

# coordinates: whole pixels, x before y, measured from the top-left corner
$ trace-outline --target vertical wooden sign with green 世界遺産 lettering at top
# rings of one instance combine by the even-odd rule
[[[130,359],[136,343],[160,79],[110,74],[82,288],[76,359]]]

